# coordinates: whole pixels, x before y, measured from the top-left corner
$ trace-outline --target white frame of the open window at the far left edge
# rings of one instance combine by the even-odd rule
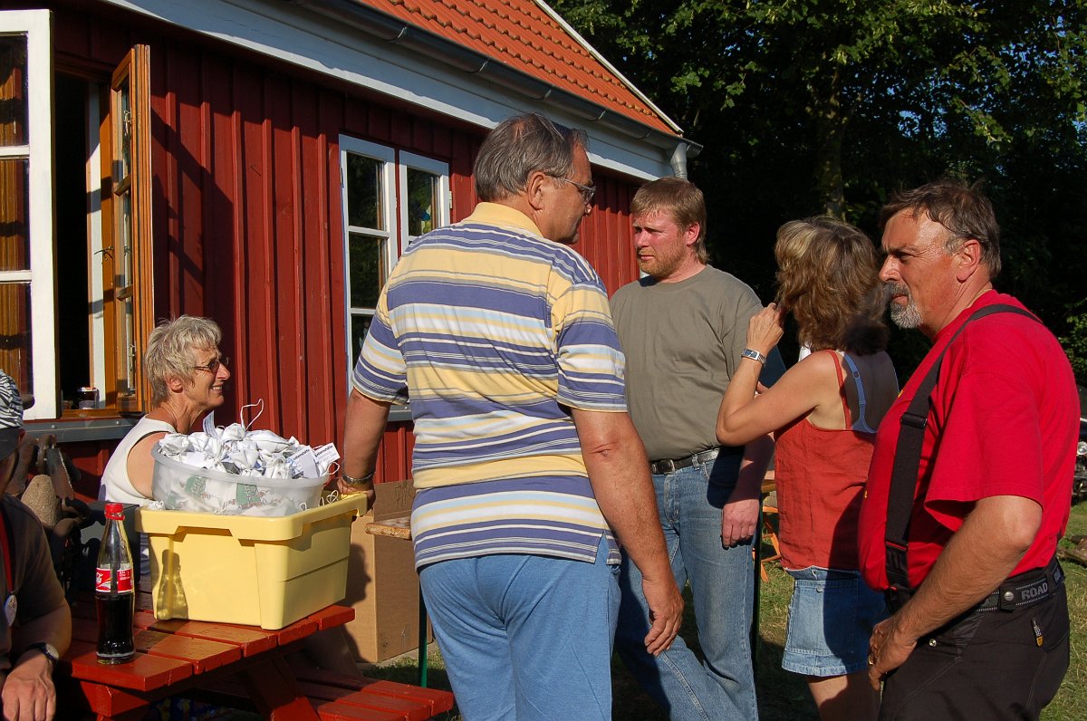
[[[25,409],[27,420],[55,419],[57,314],[54,306],[53,262],[53,62],[48,10],[8,10],[0,12],[0,34],[26,36],[27,133],[24,146],[0,148],[0,158],[27,159],[29,207],[27,226],[30,236],[30,270],[0,271],[0,279],[30,284],[30,353],[34,406]]]

